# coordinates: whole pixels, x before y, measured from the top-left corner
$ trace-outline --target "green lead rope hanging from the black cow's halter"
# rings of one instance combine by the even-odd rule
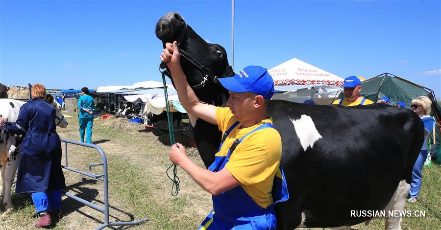
[[[172,113],[170,113],[170,106],[169,106],[169,96],[167,94],[167,86],[165,82],[165,74],[164,71],[159,70],[162,74],[162,83],[164,84],[164,96],[166,100],[166,108],[167,108],[167,119],[169,123],[169,135],[170,135],[170,146],[175,144],[174,141],[174,131],[173,131],[173,120],[172,120]],[[169,176],[169,169],[173,168],[173,178]],[[177,174],[176,164],[172,163],[170,167],[166,170],[167,177],[172,181],[172,196],[177,196],[179,193],[179,177]]]

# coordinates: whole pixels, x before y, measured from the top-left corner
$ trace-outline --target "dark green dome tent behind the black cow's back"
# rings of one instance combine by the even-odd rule
[[[417,85],[411,81],[395,76],[391,73],[383,73],[378,76],[369,78],[362,82],[362,96],[376,102],[383,96],[390,97],[391,105],[395,105],[396,102],[402,101],[406,104],[406,108],[411,108],[412,100],[418,96],[427,96],[432,101],[432,113],[431,116],[440,124],[441,108],[437,103],[435,93],[424,86]],[[343,98],[343,93],[339,98]],[[436,130],[436,144],[440,146],[441,135],[440,126],[435,124]],[[431,138],[433,144],[433,138]],[[441,163],[441,148],[439,148],[440,154],[438,162]]]

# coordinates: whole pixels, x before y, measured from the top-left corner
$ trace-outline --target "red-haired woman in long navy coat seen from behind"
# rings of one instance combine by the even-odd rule
[[[46,88],[32,86],[32,99],[20,108],[16,122],[0,118],[0,127],[25,135],[20,145],[16,194],[32,193],[39,214],[36,228],[52,223],[50,214],[61,217],[61,189],[66,187],[61,170],[61,143],[55,132],[55,109],[45,101]]]

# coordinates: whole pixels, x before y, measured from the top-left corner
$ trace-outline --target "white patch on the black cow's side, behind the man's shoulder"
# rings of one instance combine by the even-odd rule
[[[309,146],[312,148],[314,143],[318,139],[322,138],[310,116],[302,115],[300,119],[291,119],[291,121],[294,124],[295,133],[300,139],[300,144],[302,145],[304,151],[306,151]]]

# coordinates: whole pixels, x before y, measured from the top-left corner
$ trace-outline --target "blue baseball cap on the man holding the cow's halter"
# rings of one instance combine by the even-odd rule
[[[270,73],[260,66],[247,66],[234,77],[219,78],[219,82],[231,92],[252,92],[266,99],[271,99],[275,92]]]

